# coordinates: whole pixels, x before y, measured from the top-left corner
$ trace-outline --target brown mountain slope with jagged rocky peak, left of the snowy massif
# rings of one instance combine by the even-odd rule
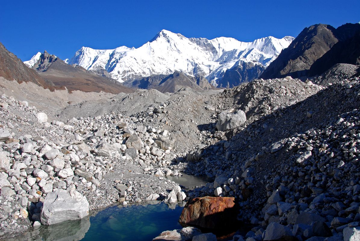
[[[65,86],[69,91],[103,91],[112,94],[133,92],[132,89],[121,85],[115,80],[96,75],[84,68],[68,65],[46,51],[41,54],[33,69],[45,80],[51,81],[55,86]]]

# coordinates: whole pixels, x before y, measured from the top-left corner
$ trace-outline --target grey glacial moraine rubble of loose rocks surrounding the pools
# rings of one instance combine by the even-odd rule
[[[145,93],[156,91],[127,96],[141,102]],[[235,197],[238,219],[253,227],[234,236],[239,241],[359,236],[358,77],[325,86],[260,79],[212,95],[184,88],[160,102],[144,101],[134,113],[119,110],[125,99],[104,103],[107,113],[99,116],[58,120],[0,97],[2,237],[39,225],[48,194],[61,189],[86,197],[89,210]],[[89,113],[92,105],[85,103]],[[215,180],[185,193],[165,178],[181,171]],[[186,238],[167,232],[162,236]]]

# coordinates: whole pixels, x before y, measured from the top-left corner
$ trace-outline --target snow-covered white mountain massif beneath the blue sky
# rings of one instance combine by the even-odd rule
[[[86,70],[105,69],[113,79],[123,82],[156,74],[181,71],[187,75],[202,75],[209,82],[222,78],[238,60],[258,62],[268,66],[294,38],[276,39],[269,36],[252,42],[234,38],[187,38],[167,30],[139,48],[121,46],[116,49],[82,47],[67,61]]]

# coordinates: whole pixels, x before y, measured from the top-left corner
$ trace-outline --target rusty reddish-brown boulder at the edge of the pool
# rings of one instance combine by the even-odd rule
[[[234,197],[196,197],[190,200],[179,222],[203,228],[229,228],[238,223],[238,205]]]

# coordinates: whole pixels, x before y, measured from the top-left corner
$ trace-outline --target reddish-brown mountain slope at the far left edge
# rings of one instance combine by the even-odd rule
[[[16,55],[9,52],[5,46],[0,43],[0,76],[7,80],[16,80],[17,82],[33,82],[45,89],[54,90],[51,83],[46,82],[36,71],[29,69]]]

